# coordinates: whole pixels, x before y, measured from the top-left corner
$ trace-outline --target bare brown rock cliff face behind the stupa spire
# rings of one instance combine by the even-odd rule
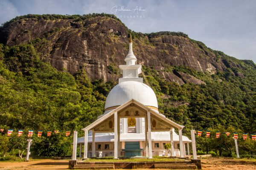
[[[0,28],[0,43],[13,46],[26,42],[32,42],[42,60],[53,67],[66,68],[71,74],[84,67],[91,80],[104,81],[121,77],[118,65],[125,64],[129,44],[125,26],[110,17],[83,21],[27,18]],[[226,68],[213,52],[187,37],[144,35],[134,38],[133,48],[137,64],[154,66],[168,81],[179,85],[204,82],[182,73],[167,73],[167,65],[187,66],[211,74]]]

